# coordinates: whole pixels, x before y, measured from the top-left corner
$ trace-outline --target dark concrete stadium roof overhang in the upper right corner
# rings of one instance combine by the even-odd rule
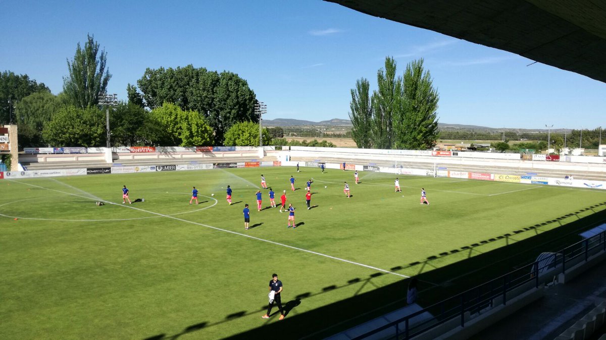
[[[325,0],[606,82],[606,0]]]

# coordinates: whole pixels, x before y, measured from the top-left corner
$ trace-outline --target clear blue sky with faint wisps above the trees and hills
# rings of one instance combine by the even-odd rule
[[[0,71],[59,93],[66,60],[87,33],[107,51],[108,91],[120,99],[147,67],[193,64],[246,79],[267,104],[265,119],[347,119],[357,79],[376,88],[385,56],[396,58],[398,74],[422,57],[440,122],[606,126],[605,83],[324,1],[8,1]]]

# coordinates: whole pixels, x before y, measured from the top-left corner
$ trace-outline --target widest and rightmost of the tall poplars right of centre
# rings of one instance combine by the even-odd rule
[[[430,149],[438,139],[438,91],[423,59],[410,62],[402,81],[402,110],[396,117],[396,147]]]

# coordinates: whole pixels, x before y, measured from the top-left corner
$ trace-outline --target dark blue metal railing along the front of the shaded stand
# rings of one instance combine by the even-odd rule
[[[601,251],[606,252],[606,231],[565,247],[556,253],[556,256],[553,257],[553,262],[548,261],[545,263],[545,261],[534,261],[533,263],[499,276],[494,280],[490,280],[481,286],[466,290],[463,293],[407,315],[404,318],[385,324],[378,329],[371,330],[354,339],[365,339],[369,336],[376,335],[379,332],[391,329],[391,335],[383,336],[386,338],[391,336],[394,339],[408,340],[421,335],[421,333],[425,333],[428,330],[435,329],[445,322],[453,321],[456,318],[460,318],[460,325],[461,327],[464,327],[465,313],[473,315],[481,313],[482,310],[486,308],[494,307],[494,304],[506,305],[508,298],[513,298],[521,293],[527,292],[532,287],[538,288],[541,283],[551,281],[553,276],[543,275],[543,272],[552,272],[552,270],[554,271],[561,266],[561,272],[565,273],[567,266],[570,267],[583,261],[586,262],[591,255]],[[539,264],[540,262],[543,263],[542,266]],[[557,272],[559,273],[559,270]],[[526,289],[521,288],[522,286],[525,286]],[[519,292],[514,292],[513,295],[511,295],[510,292],[518,288],[520,288]],[[415,318],[420,318],[424,313],[430,313],[432,317],[419,322],[413,320]],[[413,324],[412,327],[410,327],[411,324]]]

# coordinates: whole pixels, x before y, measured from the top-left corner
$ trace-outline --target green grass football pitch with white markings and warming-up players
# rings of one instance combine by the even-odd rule
[[[265,209],[256,211],[261,174],[276,202],[287,191],[296,229],[287,228],[287,213],[267,208],[267,190]],[[2,180],[0,338],[234,336],[278,322],[261,319],[272,273],[284,283],[282,302],[290,301],[279,322],[288,322],[475,255],[453,249],[476,244],[485,253],[603,210],[541,225],[606,201],[606,191],[411,176],[399,176],[399,193],[395,177],[360,172],[356,185],[353,171],[250,168]],[[122,185],[131,200],[145,201],[121,204]],[[188,204],[192,186],[199,205]],[[421,187],[429,206],[419,204]]]

